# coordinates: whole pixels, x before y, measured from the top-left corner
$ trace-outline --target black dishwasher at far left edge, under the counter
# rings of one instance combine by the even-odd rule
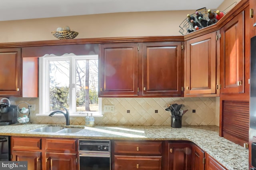
[[[10,136],[0,136],[0,160],[10,160]]]

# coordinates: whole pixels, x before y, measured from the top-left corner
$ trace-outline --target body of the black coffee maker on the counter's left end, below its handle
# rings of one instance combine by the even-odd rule
[[[16,105],[10,105],[6,113],[0,112],[0,126],[12,125],[17,122]]]

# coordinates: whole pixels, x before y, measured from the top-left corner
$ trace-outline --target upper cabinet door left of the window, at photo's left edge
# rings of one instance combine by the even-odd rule
[[[21,95],[21,49],[0,49],[0,95]]]

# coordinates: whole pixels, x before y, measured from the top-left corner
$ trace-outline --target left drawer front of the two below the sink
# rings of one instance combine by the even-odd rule
[[[24,150],[24,149],[36,149],[40,150],[42,140],[41,138],[20,138],[12,137],[12,149]]]

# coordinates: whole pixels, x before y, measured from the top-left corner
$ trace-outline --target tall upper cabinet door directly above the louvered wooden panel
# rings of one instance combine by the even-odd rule
[[[220,29],[221,94],[244,93],[244,19],[241,12]]]

